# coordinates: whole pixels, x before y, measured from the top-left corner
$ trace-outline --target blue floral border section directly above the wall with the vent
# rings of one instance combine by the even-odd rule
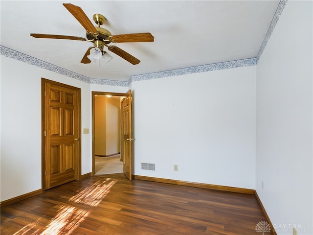
[[[246,66],[252,66],[252,65],[256,65],[256,58],[235,60],[235,61],[229,61],[229,62],[223,62],[223,63],[210,64],[210,65],[201,65],[201,66],[189,67],[189,68],[178,69],[178,70],[134,75],[131,77],[130,82],[150,80],[150,79],[156,79],[156,78],[161,78],[161,77],[179,76],[179,75],[190,74],[190,73],[228,70],[228,69],[246,67]]]

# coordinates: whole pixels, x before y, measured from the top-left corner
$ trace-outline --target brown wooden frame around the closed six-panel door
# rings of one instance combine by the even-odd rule
[[[42,190],[45,191],[45,83],[54,84],[57,86],[66,87],[69,89],[77,90],[78,92],[78,136],[79,140],[77,141],[78,146],[78,156],[75,159],[75,167],[77,167],[78,172],[75,177],[76,180],[81,180],[82,177],[82,144],[81,144],[81,89],[78,87],[73,87],[64,83],[52,81],[46,78],[41,78],[41,132],[42,132],[42,144],[41,144],[41,167],[42,167]]]

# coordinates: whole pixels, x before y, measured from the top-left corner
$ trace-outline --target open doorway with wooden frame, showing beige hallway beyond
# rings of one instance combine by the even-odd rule
[[[125,95],[92,92],[92,175],[123,173],[121,101]]]

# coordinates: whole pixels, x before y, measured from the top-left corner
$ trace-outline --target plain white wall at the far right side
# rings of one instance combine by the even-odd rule
[[[257,64],[256,190],[277,234],[313,234],[312,3],[286,4]]]

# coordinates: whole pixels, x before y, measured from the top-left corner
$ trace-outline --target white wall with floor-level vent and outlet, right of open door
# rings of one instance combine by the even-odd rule
[[[255,82],[256,66],[133,82],[134,174],[255,188]]]

